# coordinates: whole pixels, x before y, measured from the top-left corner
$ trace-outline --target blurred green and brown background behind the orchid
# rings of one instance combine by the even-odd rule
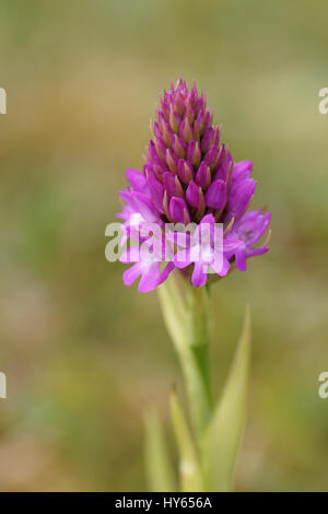
[[[155,293],[105,260],[159,93],[197,80],[254,161],[271,250],[213,289],[215,390],[253,313],[241,491],[328,490],[326,1],[3,0],[1,490],[145,490],[143,412],[179,367]]]

